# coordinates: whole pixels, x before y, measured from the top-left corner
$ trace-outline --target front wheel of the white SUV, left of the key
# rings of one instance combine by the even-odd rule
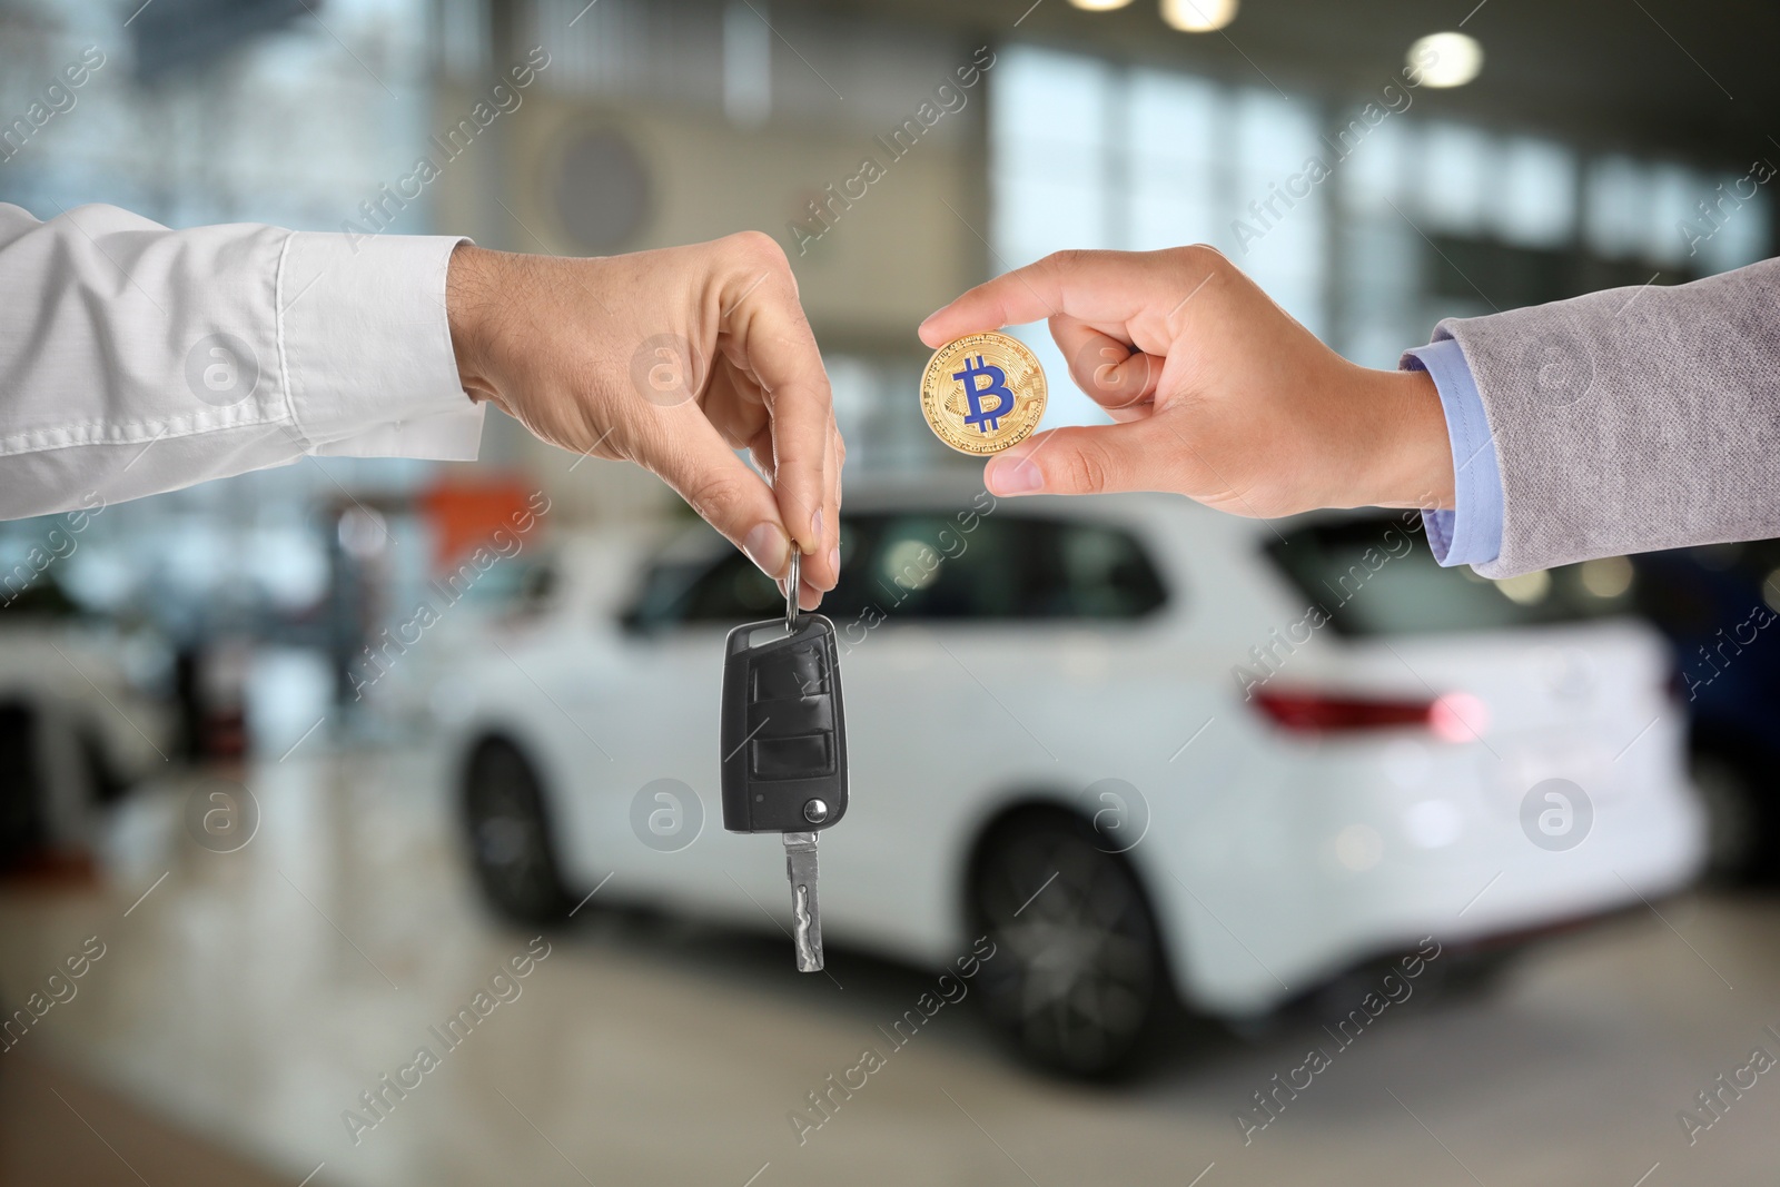
[[[543,783],[511,742],[490,739],[470,753],[463,781],[465,840],[482,895],[516,924],[568,916]]]

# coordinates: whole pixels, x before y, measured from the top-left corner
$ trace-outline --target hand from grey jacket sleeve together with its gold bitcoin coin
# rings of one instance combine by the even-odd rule
[[[1041,317],[1116,424],[1031,436],[1043,395],[1024,404],[1015,375],[1038,363],[1027,372],[1031,352],[990,331]],[[1210,247],[1057,253],[972,288],[920,335],[940,347],[922,381],[927,424],[952,448],[997,454],[984,468],[995,495],[1173,491],[1269,518],[1452,505],[1428,374],[1349,363]]]

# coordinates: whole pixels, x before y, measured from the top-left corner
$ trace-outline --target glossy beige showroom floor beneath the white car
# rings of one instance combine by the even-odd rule
[[[1752,1048],[1780,1054],[1762,1030],[1780,1030],[1780,904],[1728,897],[1558,940],[1488,997],[1383,1014],[1248,1146],[1232,1112],[1303,1061],[1314,1018],[1184,1034],[1137,1086],[1088,1089],[1011,1066],[968,1009],[947,1009],[799,1148],[787,1110],[929,979],[844,950],[833,979],[799,977],[778,938],[589,909],[552,936],[520,997],[354,1144],[342,1112],[422,1043],[438,1050],[429,1027],[529,936],[479,908],[425,758],[292,758],[247,781],[263,819],[239,852],[192,844],[189,788],[164,787],[112,822],[96,883],[0,897],[7,1002],[89,936],[103,943],[75,997],[0,1055],[12,1118],[0,1176],[258,1182],[226,1169],[251,1164],[287,1187],[312,1175],[379,1187],[1775,1182],[1780,1075],[1725,1093],[1691,1148],[1677,1121],[1714,1077],[1746,1082]],[[148,1173],[167,1164],[155,1123],[194,1135],[208,1176]]]

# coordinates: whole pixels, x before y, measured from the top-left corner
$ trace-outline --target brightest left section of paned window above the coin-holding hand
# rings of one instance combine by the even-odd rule
[[[1326,196],[1289,217],[1250,215],[1244,251],[1230,222],[1266,203],[1317,151],[1317,112],[1267,87],[1219,87],[1189,75],[1123,69],[1050,50],[1000,55],[990,105],[991,265],[1063,247],[1148,251],[1210,242],[1230,251],[1280,304],[1326,333]],[[1276,203],[1283,212],[1283,205]],[[1102,413],[1073,384],[1043,324],[1016,329],[1052,384],[1047,425]]]

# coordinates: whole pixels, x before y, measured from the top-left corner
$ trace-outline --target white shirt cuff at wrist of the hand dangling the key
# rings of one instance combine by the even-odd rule
[[[465,395],[445,317],[450,235],[294,231],[278,269],[278,358],[313,454],[472,461],[482,406]]]

